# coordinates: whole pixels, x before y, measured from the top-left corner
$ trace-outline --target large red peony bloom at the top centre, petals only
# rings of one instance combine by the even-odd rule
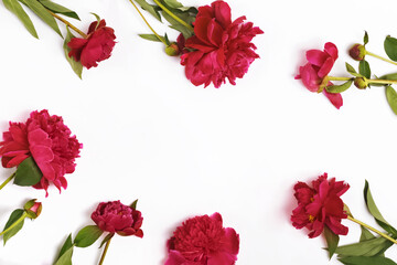
[[[215,1],[198,8],[194,22],[194,34],[185,43],[181,64],[185,65],[186,77],[196,86],[211,83],[219,87],[226,77],[235,85],[236,78],[247,73],[249,65],[259,57],[250,42],[264,33],[251,22],[240,17],[234,22],[226,2]]]

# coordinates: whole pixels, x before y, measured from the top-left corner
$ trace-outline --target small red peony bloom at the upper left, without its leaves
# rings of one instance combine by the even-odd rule
[[[114,29],[106,26],[105,20],[95,21],[89,25],[87,39],[73,38],[68,43],[72,50],[69,57],[81,62],[86,68],[98,66],[97,62],[111,55],[116,35]]]

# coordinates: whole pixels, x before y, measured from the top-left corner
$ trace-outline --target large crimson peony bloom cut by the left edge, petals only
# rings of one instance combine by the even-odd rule
[[[43,178],[33,186],[47,191],[53,183],[60,191],[66,189],[66,173],[73,173],[75,158],[83,147],[76,136],[64,125],[62,117],[50,116],[46,109],[32,112],[26,123],[11,123],[9,131],[3,132],[0,156],[4,168],[18,167],[24,159],[32,157]]]

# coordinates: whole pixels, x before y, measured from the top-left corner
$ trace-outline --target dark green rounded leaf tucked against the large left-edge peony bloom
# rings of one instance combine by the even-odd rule
[[[18,186],[34,186],[39,183],[43,173],[35,163],[32,157],[23,160],[17,168],[14,184]]]

